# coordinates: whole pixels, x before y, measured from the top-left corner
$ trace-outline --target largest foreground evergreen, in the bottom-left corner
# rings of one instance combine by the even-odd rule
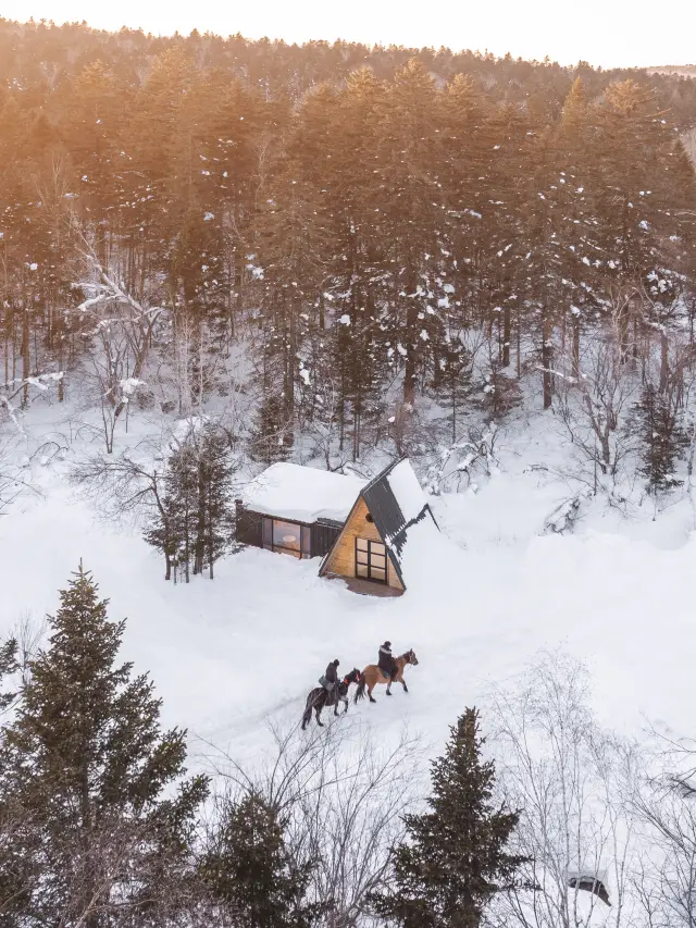
[[[60,597],[4,730],[0,804],[22,827],[5,836],[0,870],[22,891],[3,916],[117,928],[176,910],[208,787],[182,780],[186,732],[162,732],[152,683],[117,664],[124,622],[109,621],[82,564]]]

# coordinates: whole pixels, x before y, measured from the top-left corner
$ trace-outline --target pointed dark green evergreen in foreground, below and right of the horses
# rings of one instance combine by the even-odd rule
[[[519,813],[494,801],[495,766],[483,760],[478,714],[467,709],[433,763],[428,812],[407,815],[390,883],[373,898],[378,916],[405,928],[477,928],[486,904],[524,863],[506,852]]]

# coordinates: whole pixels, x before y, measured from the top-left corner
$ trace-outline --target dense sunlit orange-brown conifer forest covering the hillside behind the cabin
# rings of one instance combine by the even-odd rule
[[[135,399],[213,404],[257,461],[432,469],[538,407],[610,475],[638,417],[669,486],[696,82],[8,21],[0,81],[5,413],[91,397],[111,451]]]

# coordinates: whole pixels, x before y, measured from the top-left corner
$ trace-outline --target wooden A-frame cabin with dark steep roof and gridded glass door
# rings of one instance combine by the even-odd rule
[[[409,533],[424,522],[437,529],[411,465],[401,458],[360,491],[320,577],[344,578],[356,592],[377,594],[386,586],[400,595],[406,590],[401,554]]]

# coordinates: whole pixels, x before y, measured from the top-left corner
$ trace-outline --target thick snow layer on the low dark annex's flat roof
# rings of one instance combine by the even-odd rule
[[[364,484],[357,477],[278,462],[247,484],[241,502],[254,512],[278,519],[345,522]]]

